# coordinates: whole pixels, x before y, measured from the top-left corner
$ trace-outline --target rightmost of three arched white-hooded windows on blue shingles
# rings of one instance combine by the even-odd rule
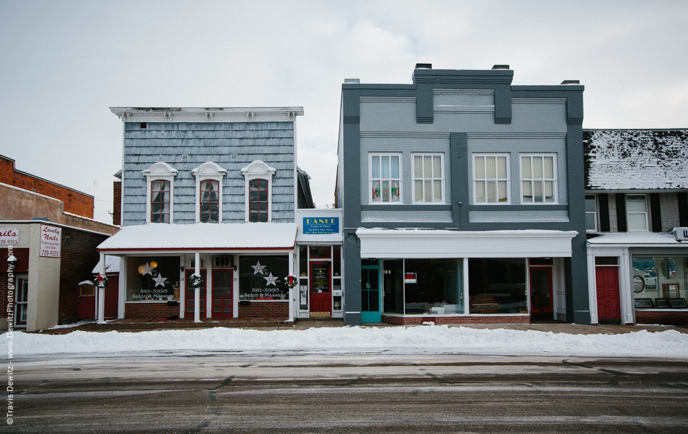
[[[247,222],[272,221],[272,176],[277,170],[256,160],[241,169],[246,177]]]

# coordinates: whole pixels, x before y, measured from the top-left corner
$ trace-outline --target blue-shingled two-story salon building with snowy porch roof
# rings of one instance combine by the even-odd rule
[[[98,250],[121,258],[119,317],[297,316],[296,214],[313,206],[297,168],[303,109],[111,110],[124,124],[122,229]]]

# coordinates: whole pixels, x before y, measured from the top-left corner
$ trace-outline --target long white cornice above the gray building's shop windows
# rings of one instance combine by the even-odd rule
[[[559,258],[577,231],[356,230],[361,258]]]

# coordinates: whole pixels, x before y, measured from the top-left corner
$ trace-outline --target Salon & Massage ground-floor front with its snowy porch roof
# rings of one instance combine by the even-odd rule
[[[122,258],[120,318],[292,321],[297,229],[151,223],[123,227],[98,251]]]

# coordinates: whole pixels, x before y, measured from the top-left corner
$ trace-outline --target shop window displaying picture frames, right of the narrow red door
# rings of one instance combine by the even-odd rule
[[[636,310],[687,307],[687,258],[633,258],[631,284]]]

